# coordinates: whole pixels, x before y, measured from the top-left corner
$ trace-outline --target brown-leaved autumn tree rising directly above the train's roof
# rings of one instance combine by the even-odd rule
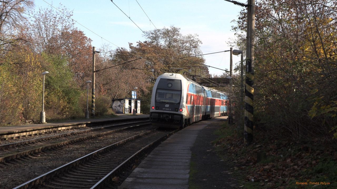
[[[155,78],[162,72],[176,72],[176,70],[172,70],[171,68],[177,66],[184,66],[180,73],[187,73],[189,75],[192,74],[191,68],[195,69],[195,67],[188,66],[200,66],[200,64],[205,63],[205,59],[200,56],[186,58],[187,60],[180,59],[186,56],[202,54],[200,50],[202,42],[196,34],[182,35],[180,28],[171,26],[170,28],[164,27],[162,29],[147,31],[144,36],[148,40],[137,42],[137,45],[132,50],[136,51],[136,48],[138,48],[140,52],[153,52],[152,54],[148,54],[147,59],[149,60],[148,66],[154,69]],[[209,76],[208,69],[197,69],[198,74],[202,77]]]

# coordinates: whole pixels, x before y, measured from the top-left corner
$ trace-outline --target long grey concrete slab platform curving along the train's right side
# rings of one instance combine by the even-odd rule
[[[192,124],[169,137],[133,170],[118,189],[188,189],[191,147],[206,125],[227,116]]]

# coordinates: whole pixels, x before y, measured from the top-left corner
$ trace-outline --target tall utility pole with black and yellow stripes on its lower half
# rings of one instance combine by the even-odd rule
[[[245,131],[244,145],[253,142],[254,127],[254,33],[255,33],[255,0],[248,0],[247,11],[247,60],[245,79]]]

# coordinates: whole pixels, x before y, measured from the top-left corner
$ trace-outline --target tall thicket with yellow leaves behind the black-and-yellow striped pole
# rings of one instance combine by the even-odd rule
[[[254,116],[271,133],[304,141],[308,136],[331,139],[336,13],[337,2],[331,0],[257,2]],[[233,28],[238,34],[245,33],[245,14]],[[244,38],[239,36],[237,44],[244,46]]]

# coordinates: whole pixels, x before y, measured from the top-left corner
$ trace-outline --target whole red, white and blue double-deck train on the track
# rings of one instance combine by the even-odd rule
[[[227,95],[202,86],[181,74],[160,75],[152,90],[150,121],[160,127],[179,128],[227,114]]]

